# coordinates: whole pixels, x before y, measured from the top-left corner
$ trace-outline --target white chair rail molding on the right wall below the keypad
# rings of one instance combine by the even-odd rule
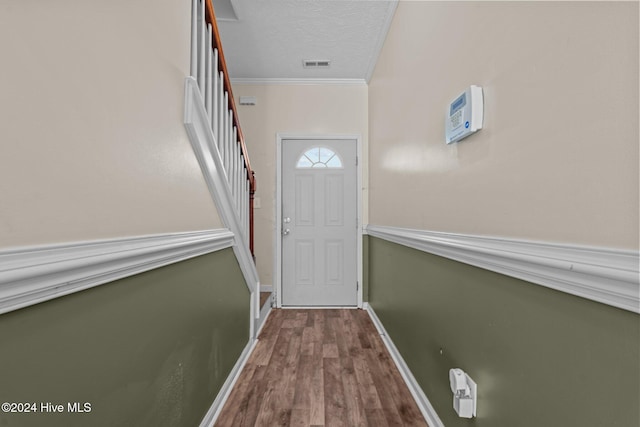
[[[638,252],[380,225],[370,236],[640,313]]]

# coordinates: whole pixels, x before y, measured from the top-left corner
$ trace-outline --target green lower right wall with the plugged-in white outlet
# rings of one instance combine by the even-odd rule
[[[637,427],[637,314],[368,238],[369,303],[447,427]],[[458,418],[448,371],[478,383]]]

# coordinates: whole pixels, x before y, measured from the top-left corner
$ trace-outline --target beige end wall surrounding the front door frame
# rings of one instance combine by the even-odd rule
[[[238,106],[261,207],[254,209],[256,265],[260,281],[273,284],[275,247],[276,137],[349,134],[362,136],[367,150],[367,87],[362,85],[234,85],[234,96],[256,96],[257,105]],[[238,99],[236,99],[238,103]],[[367,182],[363,168],[363,182]],[[366,185],[363,204],[366,206]],[[366,216],[366,210],[364,212]]]

